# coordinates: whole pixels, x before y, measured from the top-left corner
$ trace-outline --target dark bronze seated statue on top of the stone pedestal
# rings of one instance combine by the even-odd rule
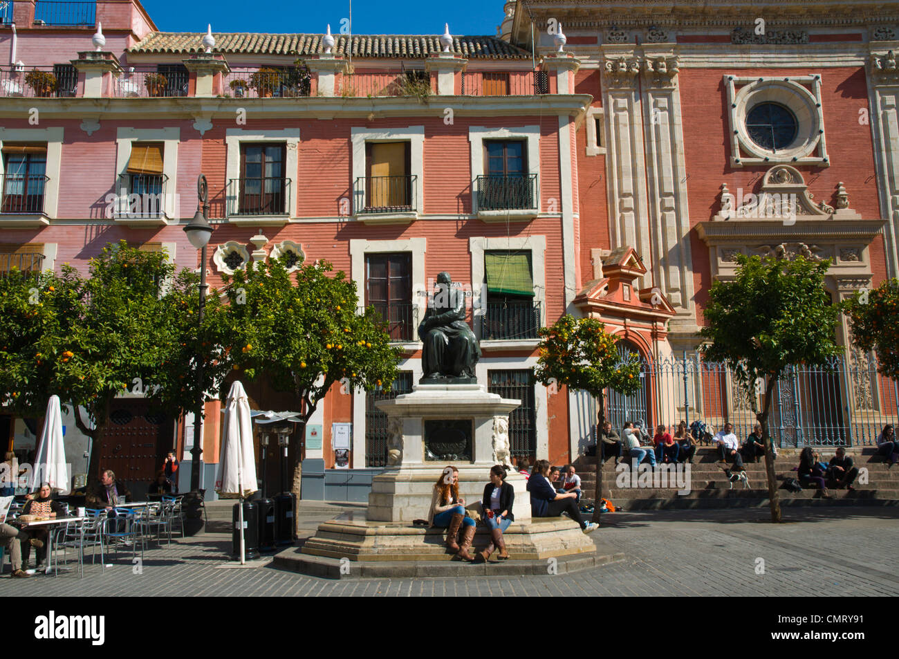
[[[465,291],[452,288],[449,272],[437,275],[433,301],[418,325],[422,339],[421,382],[474,383],[481,347],[465,322]]]

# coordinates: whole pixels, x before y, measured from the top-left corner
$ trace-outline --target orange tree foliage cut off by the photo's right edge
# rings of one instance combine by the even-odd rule
[[[865,352],[877,352],[877,370],[899,379],[899,280],[856,293],[842,309],[849,316],[853,343]]]

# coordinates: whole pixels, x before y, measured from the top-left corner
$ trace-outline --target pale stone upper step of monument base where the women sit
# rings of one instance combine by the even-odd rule
[[[345,513],[319,525],[315,535],[306,540],[302,553],[360,563],[451,561],[455,556],[446,548],[446,532],[446,529],[426,529],[405,522],[368,521],[360,513]],[[592,539],[567,517],[512,522],[503,538],[512,561],[546,560],[596,551]],[[470,553],[484,549],[489,543],[489,530],[478,524]]]

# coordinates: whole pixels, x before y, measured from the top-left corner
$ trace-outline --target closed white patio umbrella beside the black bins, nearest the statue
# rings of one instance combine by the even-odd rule
[[[244,565],[244,497],[253,494],[258,487],[250,401],[240,382],[231,385],[225,401],[221,447],[216,492],[223,499],[240,499],[237,523],[240,525],[240,563]]]

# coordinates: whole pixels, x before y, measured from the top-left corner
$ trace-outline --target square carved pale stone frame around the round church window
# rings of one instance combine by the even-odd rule
[[[732,167],[777,163],[830,166],[824,139],[819,74],[788,77],[725,74],[724,83],[727,90]],[[789,147],[777,153],[753,142],[746,129],[746,115],[762,102],[783,105],[797,119],[797,137]]]

